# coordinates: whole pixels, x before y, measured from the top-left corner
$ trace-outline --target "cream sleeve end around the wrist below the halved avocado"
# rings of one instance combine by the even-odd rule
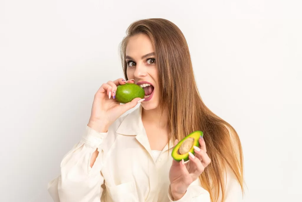
[[[169,202],[211,202],[209,192],[201,187],[199,179],[190,184],[185,195],[179,200],[173,200],[169,186],[168,197]]]

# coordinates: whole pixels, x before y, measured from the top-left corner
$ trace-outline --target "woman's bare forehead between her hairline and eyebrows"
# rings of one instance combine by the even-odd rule
[[[138,34],[128,39],[126,55],[138,59],[141,56],[152,52],[154,52],[154,49],[148,35]]]

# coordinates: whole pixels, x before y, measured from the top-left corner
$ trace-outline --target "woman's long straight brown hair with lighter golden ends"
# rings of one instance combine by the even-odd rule
[[[125,61],[127,40],[137,34],[146,34],[153,43],[162,95],[162,109],[169,109],[170,138],[181,140],[189,133],[201,130],[211,163],[200,176],[201,185],[217,201],[221,191],[225,198],[227,168],[236,176],[243,191],[243,153],[235,129],[214,114],[203,103],[194,78],[190,52],[182,31],[172,22],[161,19],[143,19],[133,22],[120,44],[120,56],[127,78]]]

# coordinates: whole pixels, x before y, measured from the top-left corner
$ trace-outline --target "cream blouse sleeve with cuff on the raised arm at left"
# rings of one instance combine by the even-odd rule
[[[107,133],[98,133],[86,127],[81,141],[61,161],[61,174],[48,183],[48,192],[54,202],[100,202],[104,178],[101,174],[103,163],[102,143]],[[90,167],[95,150],[99,154]]]

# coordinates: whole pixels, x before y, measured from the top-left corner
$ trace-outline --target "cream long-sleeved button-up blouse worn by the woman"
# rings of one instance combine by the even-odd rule
[[[48,184],[55,202],[173,201],[169,186],[173,147],[168,149],[167,144],[163,151],[151,151],[141,111],[140,106],[118,118],[107,133],[86,127],[82,140],[64,156],[61,174]],[[96,149],[99,154],[91,168]],[[241,189],[235,178],[228,178],[226,185],[225,201],[239,201]],[[210,197],[196,180],[177,201],[210,202]]]

